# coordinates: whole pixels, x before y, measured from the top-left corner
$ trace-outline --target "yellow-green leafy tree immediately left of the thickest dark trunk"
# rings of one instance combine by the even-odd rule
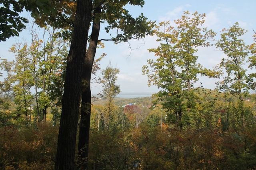
[[[41,89],[38,92],[38,102],[40,111],[42,111],[42,120],[46,121],[46,112],[49,106],[60,106],[63,84],[63,72],[66,66],[66,59],[68,56],[69,43],[59,38],[61,31],[48,27],[44,29],[44,36],[48,35],[46,41],[42,41],[42,47],[37,51],[31,51],[34,55],[36,53],[38,59],[37,74],[35,79],[37,87]],[[45,37],[43,37],[46,39]],[[39,44],[39,39],[34,42]],[[34,58],[36,59],[36,58]],[[56,82],[56,81],[59,82]]]

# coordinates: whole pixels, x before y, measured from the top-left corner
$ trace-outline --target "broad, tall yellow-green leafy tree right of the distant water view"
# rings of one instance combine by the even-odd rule
[[[174,119],[180,127],[182,115],[195,106],[195,94],[190,89],[198,80],[197,75],[217,77],[219,74],[197,63],[197,48],[210,46],[208,39],[216,35],[202,27],[204,18],[205,14],[195,12],[191,16],[185,11],[180,19],[174,21],[177,27],[171,26],[169,21],[161,22],[155,30],[160,46],[149,49],[157,59],[149,59],[148,65],[143,66],[143,74],[148,75],[148,85],[162,89],[156,94],[156,102],[163,101],[163,108],[172,113],[169,119]]]

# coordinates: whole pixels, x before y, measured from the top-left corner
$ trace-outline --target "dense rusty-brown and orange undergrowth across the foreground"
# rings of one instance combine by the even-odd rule
[[[255,169],[256,128],[92,130],[89,169]],[[0,129],[1,169],[53,169],[58,127]]]

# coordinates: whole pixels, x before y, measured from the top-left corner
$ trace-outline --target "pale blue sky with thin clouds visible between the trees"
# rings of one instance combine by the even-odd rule
[[[138,6],[127,6],[132,16],[136,17],[143,13],[149,20],[156,21],[173,21],[182,16],[182,13],[188,10],[190,13],[198,12],[205,13],[204,26],[215,31],[220,36],[220,31],[223,28],[229,28],[235,22],[240,23],[240,26],[248,30],[243,39],[246,44],[252,44],[253,31],[256,29],[256,0],[144,0],[143,8]],[[23,13],[25,17],[29,17],[28,13]],[[104,25],[101,27],[99,39],[109,38],[109,35],[104,31]],[[27,41],[30,39],[28,30],[20,33],[19,37],[11,37],[5,42],[0,42],[0,57],[14,59],[14,55],[8,52],[8,49],[16,41]],[[106,68],[109,63],[112,66],[119,68],[117,84],[120,85],[122,93],[154,93],[159,89],[156,86],[148,87],[147,76],[142,75],[142,66],[147,64],[147,59],[156,59],[153,53],[149,53],[148,49],[158,47],[156,36],[148,36],[143,40],[130,41],[132,49],[130,50],[128,43],[113,44],[112,42],[104,42],[105,48],[98,49],[96,58],[102,53],[107,56],[101,61],[102,69]],[[198,63],[206,68],[213,68],[220,63],[223,57],[226,57],[222,51],[215,47],[199,48]],[[252,70],[249,70],[251,72]],[[254,70],[255,72],[255,70]],[[100,75],[100,72],[98,72]],[[199,80],[194,86],[200,86],[200,82],[204,88],[214,89],[215,82],[218,79],[198,77]],[[97,94],[102,90],[100,84],[92,84],[92,94]]]

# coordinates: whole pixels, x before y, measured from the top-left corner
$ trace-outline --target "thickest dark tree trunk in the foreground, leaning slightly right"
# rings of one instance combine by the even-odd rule
[[[91,20],[92,0],[78,0],[74,31],[68,53],[62,113],[56,154],[56,170],[74,170],[76,131],[78,123],[82,67],[86,55],[88,30]]]

